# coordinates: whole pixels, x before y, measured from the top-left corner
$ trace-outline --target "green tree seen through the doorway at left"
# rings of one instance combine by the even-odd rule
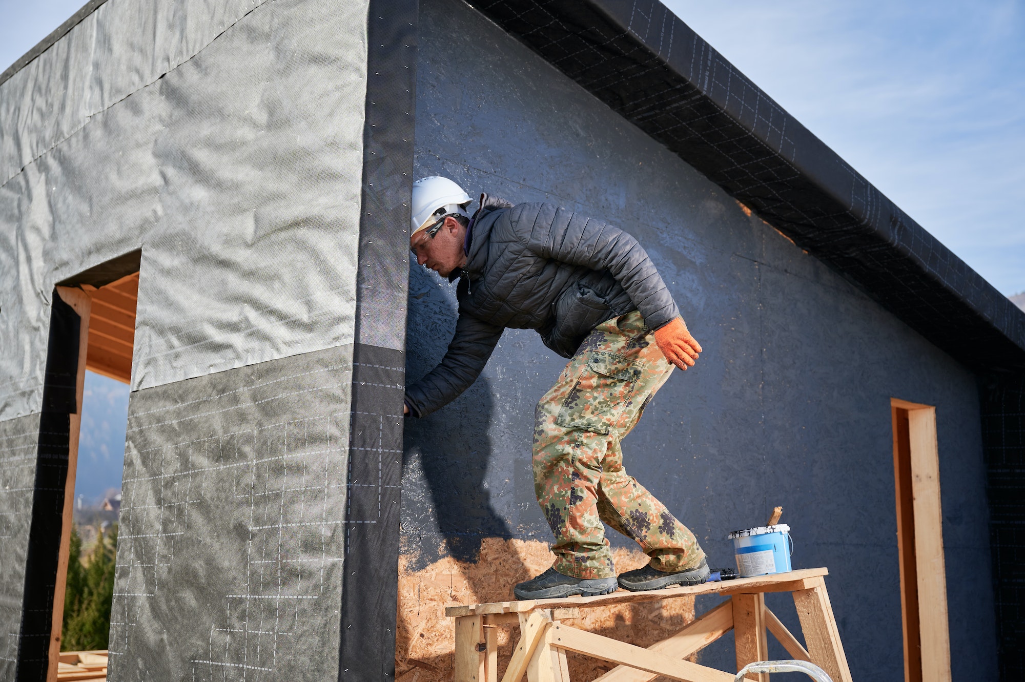
[[[65,651],[106,649],[111,631],[111,602],[114,599],[114,561],[117,525],[100,531],[87,561],[82,560],[82,539],[72,529],[68,583],[65,592]]]

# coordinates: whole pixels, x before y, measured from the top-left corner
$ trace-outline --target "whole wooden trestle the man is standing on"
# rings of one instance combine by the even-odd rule
[[[732,682],[733,673],[684,658],[733,630],[740,670],[768,658],[767,629],[794,658],[819,666],[833,682],[852,682],[826,594],[824,578],[828,572],[807,568],[651,592],[620,590],[601,597],[449,606],[445,614],[455,617],[455,682],[499,682],[495,628],[511,625],[519,625],[520,641],[501,682],[520,682],[525,673],[530,682],[570,682],[567,651],[616,664],[599,678],[601,682],[648,682],[659,675],[683,682]],[[766,592],[793,594],[808,649],[766,608]],[[716,593],[730,599],[647,649],[564,623],[579,617],[582,608]],[[766,682],[768,678],[768,674],[752,674],[747,679]]]

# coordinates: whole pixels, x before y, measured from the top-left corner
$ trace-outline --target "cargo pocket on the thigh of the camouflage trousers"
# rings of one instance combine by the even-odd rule
[[[556,424],[594,433],[616,428],[633,399],[633,384],[641,378],[642,360],[610,352],[592,352],[576,385],[559,411]]]

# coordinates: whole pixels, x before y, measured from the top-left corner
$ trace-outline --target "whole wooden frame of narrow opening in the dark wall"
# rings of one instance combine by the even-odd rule
[[[890,408],[894,434],[904,679],[906,682],[949,682],[950,630],[936,408],[898,398],[890,399]],[[906,442],[903,441],[905,431],[901,424],[905,419]],[[907,518],[908,512],[911,519]],[[907,537],[909,527],[913,529],[913,538]],[[915,607],[916,613],[909,614],[912,607]]]

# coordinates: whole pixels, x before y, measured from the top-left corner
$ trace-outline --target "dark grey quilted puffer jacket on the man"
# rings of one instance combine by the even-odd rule
[[[572,357],[607,319],[640,310],[658,329],[680,315],[638,241],[612,225],[551,204],[512,206],[482,197],[467,236],[456,298],[459,318],[441,364],[406,388],[423,417],[469,387],[505,328],[536,329],[544,345]]]

